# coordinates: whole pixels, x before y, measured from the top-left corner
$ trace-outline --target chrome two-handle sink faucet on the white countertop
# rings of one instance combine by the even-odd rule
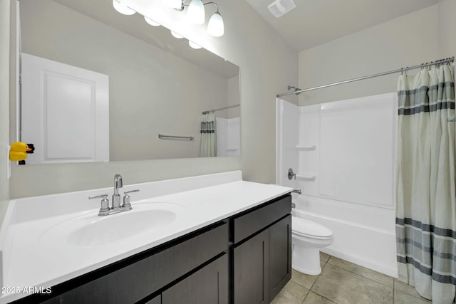
[[[128,195],[131,192],[138,192],[139,190],[131,190],[124,192],[123,204],[120,203],[120,194],[119,189],[123,187],[122,176],[120,174],[114,175],[114,194],[113,194],[113,205],[109,206],[108,194],[102,194],[97,196],[89,196],[89,199],[102,198],[100,211],[98,212],[99,216],[105,216],[110,214],[116,214],[123,211],[131,210],[130,196]]]

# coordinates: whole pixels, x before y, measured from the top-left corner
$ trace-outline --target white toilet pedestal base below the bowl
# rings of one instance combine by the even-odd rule
[[[320,249],[296,246],[296,243],[294,243],[291,268],[300,273],[318,276],[321,273]]]

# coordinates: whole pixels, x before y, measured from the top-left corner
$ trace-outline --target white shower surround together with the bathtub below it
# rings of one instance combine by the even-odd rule
[[[276,100],[276,183],[301,189],[294,215],[333,231],[321,251],[389,276],[397,276],[396,103],[397,93],[307,106]]]

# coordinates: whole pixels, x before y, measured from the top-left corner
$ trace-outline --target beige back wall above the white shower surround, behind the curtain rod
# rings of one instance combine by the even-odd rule
[[[450,4],[451,2],[451,4]],[[442,11],[440,6],[445,9]],[[445,14],[445,19],[439,14]],[[450,17],[452,16],[452,18]],[[335,83],[455,55],[455,1],[445,1],[299,53],[299,88]],[[452,47],[439,53],[441,29]],[[450,51],[452,49],[452,51]],[[409,73],[416,73],[411,70]],[[358,98],[396,90],[398,74],[299,95],[300,105]]]

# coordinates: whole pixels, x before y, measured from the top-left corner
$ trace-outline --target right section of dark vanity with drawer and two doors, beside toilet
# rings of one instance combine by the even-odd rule
[[[291,278],[291,196],[234,218],[234,304],[270,303]]]

